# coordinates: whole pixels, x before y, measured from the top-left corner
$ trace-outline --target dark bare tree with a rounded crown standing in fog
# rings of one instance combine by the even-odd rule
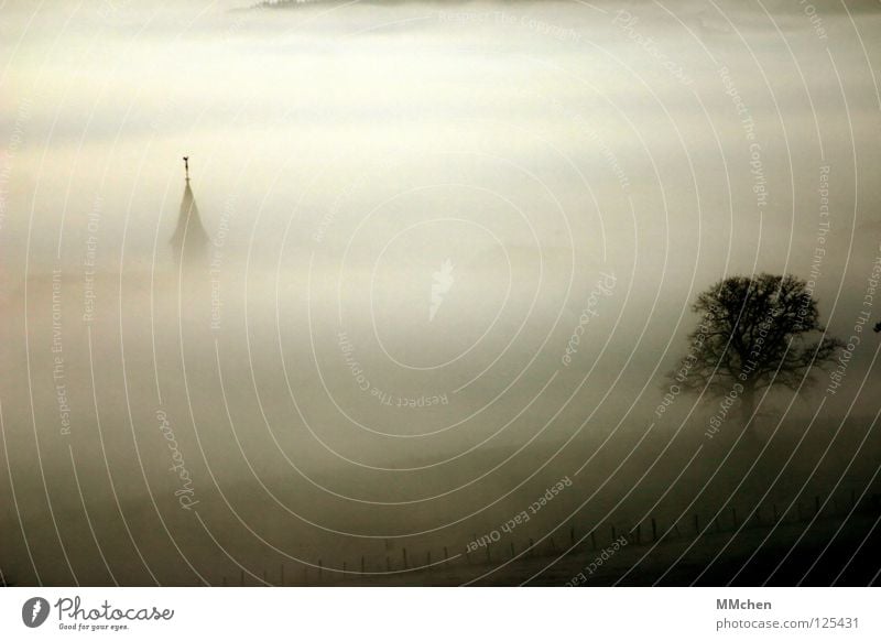
[[[701,320],[688,335],[688,354],[668,376],[684,391],[739,401],[743,426],[752,425],[753,433],[757,392],[813,382],[812,368],[830,362],[844,345],[822,336],[817,302],[793,275],[727,278],[701,293],[693,309]]]

